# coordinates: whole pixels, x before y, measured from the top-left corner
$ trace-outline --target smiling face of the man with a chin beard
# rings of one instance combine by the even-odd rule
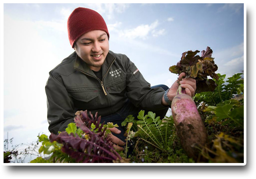
[[[109,51],[108,35],[102,30],[90,31],[76,41],[75,50],[91,70],[99,71]]]

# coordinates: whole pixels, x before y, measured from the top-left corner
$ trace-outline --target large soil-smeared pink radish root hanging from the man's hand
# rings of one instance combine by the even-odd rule
[[[206,144],[207,133],[196,104],[189,95],[180,93],[173,98],[171,108],[182,148],[188,157],[197,160],[200,152],[198,147]]]

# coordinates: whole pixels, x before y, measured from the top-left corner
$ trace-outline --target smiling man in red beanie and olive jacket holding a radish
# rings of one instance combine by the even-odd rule
[[[128,115],[141,109],[166,114],[178,88],[177,81],[169,89],[165,85],[150,87],[137,67],[123,54],[109,51],[109,34],[99,13],[76,8],[68,18],[68,38],[75,52],[49,72],[45,86],[49,131],[65,131],[74,122],[78,110],[98,112],[101,123],[118,124],[112,128],[111,139],[117,150],[124,150],[121,126]],[[196,81],[179,80],[186,93],[193,96]]]

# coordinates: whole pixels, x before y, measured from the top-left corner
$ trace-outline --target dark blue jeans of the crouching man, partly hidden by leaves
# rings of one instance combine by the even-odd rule
[[[164,91],[168,90],[169,87],[166,85],[156,85],[156,86],[151,86],[151,88],[156,88],[156,87],[162,87],[164,89]],[[114,114],[108,115],[108,116],[101,116],[101,120],[100,123],[103,123],[105,121],[105,124],[107,124],[108,122],[113,122],[113,124],[117,124],[119,127],[117,127],[121,133],[120,134],[115,134],[113,133],[114,136],[120,138],[122,141],[126,142],[125,139],[126,137],[124,137],[124,133],[126,131],[126,126],[121,126],[121,123],[124,121],[124,119],[129,116],[129,115],[133,115],[133,117],[135,117],[135,119],[138,116],[138,113],[140,112],[140,110],[144,110],[142,108],[136,108],[130,100],[128,100],[124,106],[117,111]],[[156,111],[152,111],[153,113],[156,113],[156,116],[160,116],[160,119],[163,119],[164,116],[166,115],[168,111],[168,107],[164,108],[162,110],[156,110]],[[148,114],[148,110],[145,110],[144,114]],[[128,142],[129,146],[129,152],[127,153],[128,155],[131,154],[132,152],[132,146],[131,143]]]

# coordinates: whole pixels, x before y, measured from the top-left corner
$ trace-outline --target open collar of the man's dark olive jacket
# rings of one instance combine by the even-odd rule
[[[95,76],[95,74],[92,72],[92,70],[87,65],[87,63],[85,63],[78,55],[76,55],[76,52],[74,53],[75,53],[74,57],[76,58],[74,68],[84,73],[88,73],[92,76]],[[106,56],[106,59],[102,64],[102,75],[108,71],[108,67],[112,64],[113,60],[115,60],[115,56],[108,52],[108,55]]]

